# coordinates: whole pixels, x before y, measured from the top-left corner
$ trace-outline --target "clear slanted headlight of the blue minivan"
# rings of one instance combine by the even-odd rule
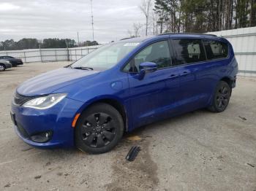
[[[47,96],[34,98],[27,101],[23,106],[31,107],[34,109],[48,109],[56,104],[58,104],[63,98],[66,97],[66,93],[56,93]]]

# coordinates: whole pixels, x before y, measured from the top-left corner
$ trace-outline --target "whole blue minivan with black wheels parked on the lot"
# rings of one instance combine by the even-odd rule
[[[34,147],[108,152],[124,131],[195,109],[223,112],[236,86],[231,44],[206,34],[122,39],[15,91],[15,131]]]

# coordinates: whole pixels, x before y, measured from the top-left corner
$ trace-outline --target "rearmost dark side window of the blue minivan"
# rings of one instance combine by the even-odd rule
[[[224,42],[204,40],[203,44],[206,48],[206,55],[208,60],[227,58],[228,47]]]

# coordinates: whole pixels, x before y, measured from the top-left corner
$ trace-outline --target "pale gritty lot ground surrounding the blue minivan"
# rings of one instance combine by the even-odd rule
[[[0,190],[256,190],[256,78],[238,77],[225,112],[201,109],[146,125],[103,155],[34,149],[12,129],[12,93],[65,65],[28,63],[0,73]],[[127,162],[132,145],[142,150]]]

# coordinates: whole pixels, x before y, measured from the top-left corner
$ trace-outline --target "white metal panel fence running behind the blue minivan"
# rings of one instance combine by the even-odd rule
[[[217,31],[208,34],[223,36],[233,45],[239,75],[256,77],[256,27]],[[21,58],[23,62],[76,61],[100,46],[0,51],[1,55]]]

